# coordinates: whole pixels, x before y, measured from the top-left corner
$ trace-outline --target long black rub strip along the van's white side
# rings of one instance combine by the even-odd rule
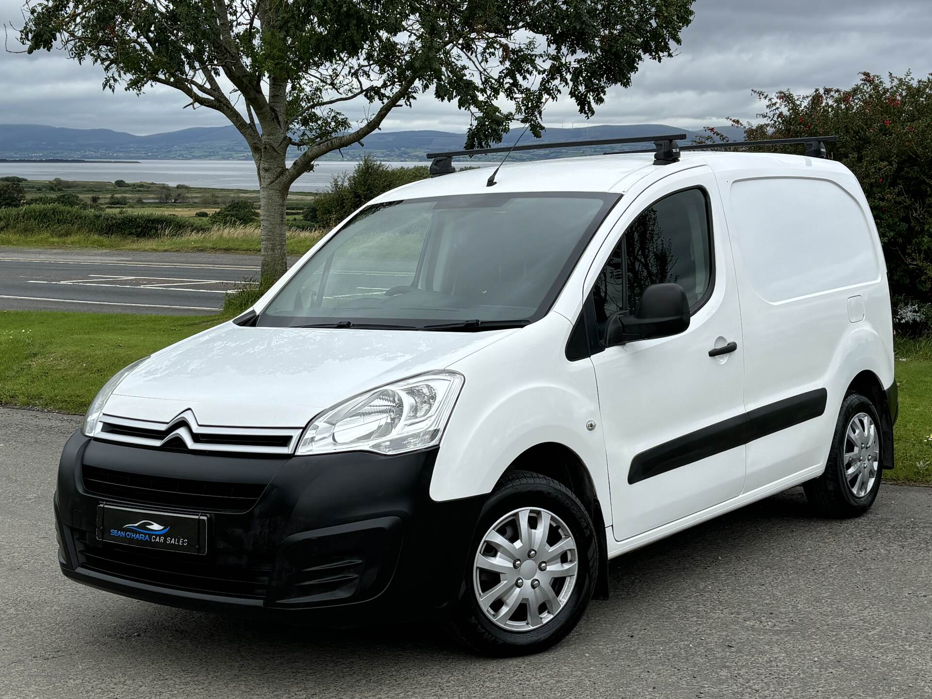
[[[828,398],[829,391],[825,389],[806,391],[653,446],[631,459],[628,483],[673,471],[693,461],[818,418],[825,412]]]

